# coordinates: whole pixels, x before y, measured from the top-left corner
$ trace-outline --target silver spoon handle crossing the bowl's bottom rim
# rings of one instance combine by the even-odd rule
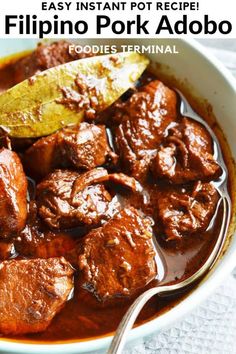
[[[124,315],[121,320],[116,333],[113,337],[111,345],[108,349],[107,354],[121,354],[124,344],[126,342],[126,337],[133,327],[133,324],[138,317],[138,314],[144,307],[144,305],[151,299],[154,295],[163,293],[169,290],[169,286],[159,286],[152,289],[148,289],[143,294],[141,294],[130,306],[129,310]]]

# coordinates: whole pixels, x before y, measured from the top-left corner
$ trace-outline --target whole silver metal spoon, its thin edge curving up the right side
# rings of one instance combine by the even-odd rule
[[[222,217],[222,225],[219,233],[219,237],[216,241],[216,244],[206,260],[206,262],[202,265],[202,267],[195,272],[193,275],[191,275],[189,278],[173,284],[173,285],[160,285],[154,288],[151,288],[147,291],[145,291],[142,295],[140,295],[134,303],[130,306],[129,310],[126,312],[125,316],[121,320],[117,331],[113,337],[113,340],[111,342],[111,345],[108,349],[107,354],[120,354],[122,353],[122,349],[125,345],[125,341],[128,335],[128,332],[130,329],[133,327],[133,324],[142,310],[143,306],[146,304],[146,302],[153,297],[154,295],[157,294],[167,294],[167,293],[172,293],[176,290],[184,289],[187,286],[191,285],[200,277],[202,277],[207,271],[209,271],[213,265],[216,263],[217,259],[219,258],[219,255],[223,249],[224,242],[227,236],[227,231],[229,227],[229,222],[230,222],[230,216],[231,216],[231,200],[229,197],[229,193],[227,190],[227,181],[228,181],[228,171],[223,159],[222,151],[220,148],[219,141],[215,135],[215,133],[212,131],[212,129],[209,127],[209,125],[196,113],[193,111],[189,103],[187,102],[186,98],[183,96],[183,94],[179,91],[176,90],[180,96],[180,113],[185,116],[189,117],[199,123],[201,123],[206,130],[209,132],[209,134],[212,137],[213,141],[213,149],[214,149],[214,158],[220,165],[222,169],[222,174],[221,176],[217,179],[217,181],[214,181],[214,185],[220,195],[220,200],[219,204],[222,204],[223,206],[223,217]]]

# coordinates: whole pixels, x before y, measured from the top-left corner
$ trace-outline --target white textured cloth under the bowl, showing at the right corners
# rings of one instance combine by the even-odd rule
[[[199,42],[236,78],[236,39]],[[124,354],[236,354],[236,269],[190,315],[169,330],[141,339]]]

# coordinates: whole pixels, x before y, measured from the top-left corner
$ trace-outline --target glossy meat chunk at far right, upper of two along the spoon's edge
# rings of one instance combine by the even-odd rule
[[[154,176],[178,184],[220,174],[212,155],[211,137],[200,124],[183,118],[166,141],[153,161]]]

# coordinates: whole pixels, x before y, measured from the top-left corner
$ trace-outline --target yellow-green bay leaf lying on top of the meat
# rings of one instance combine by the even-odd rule
[[[11,137],[51,134],[114,103],[149,60],[124,52],[76,60],[48,69],[0,95],[0,127]]]

